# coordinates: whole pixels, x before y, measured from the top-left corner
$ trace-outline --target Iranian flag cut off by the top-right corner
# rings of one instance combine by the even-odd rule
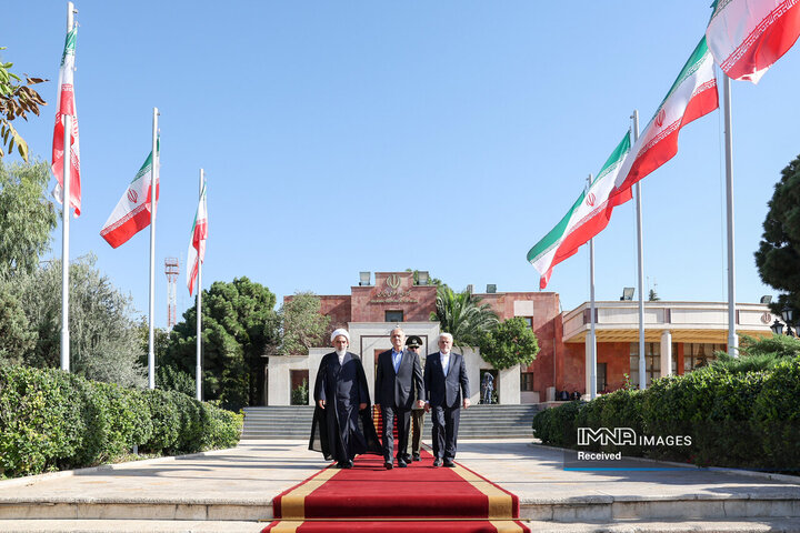
[[[800,0],[717,0],[706,30],[717,63],[758,83],[800,36]]]

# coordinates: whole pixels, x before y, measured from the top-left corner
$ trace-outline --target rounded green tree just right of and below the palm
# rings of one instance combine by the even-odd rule
[[[539,340],[524,319],[516,316],[484,332],[478,346],[481,358],[498,370],[529,365],[539,353]]]

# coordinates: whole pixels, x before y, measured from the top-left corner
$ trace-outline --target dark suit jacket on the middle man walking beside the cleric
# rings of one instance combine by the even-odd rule
[[[419,355],[410,350],[403,350],[397,372],[394,372],[394,365],[391,361],[391,350],[378,355],[376,404],[411,409],[414,396],[422,398],[422,366],[419,362]]]

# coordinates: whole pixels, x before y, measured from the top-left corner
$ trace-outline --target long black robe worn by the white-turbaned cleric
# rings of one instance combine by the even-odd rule
[[[347,352],[339,364],[336,352],[326,354],[317,372],[313,395],[309,450],[339,462],[361,453],[381,454],[372,423],[367,375],[358,355]],[[320,400],[326,401],[326,409],[319,406]],[[367,409],[359,412],[361,403],[366,403]]]

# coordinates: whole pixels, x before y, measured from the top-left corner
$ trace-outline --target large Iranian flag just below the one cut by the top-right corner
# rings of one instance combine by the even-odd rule
[[[717,108],[719,98],[713,58],[703,37],[641,137],[633,143],[631,157],[617,175],[609,209],[630,200],[631,187],[636,182],[678,153],[681,128]]]

